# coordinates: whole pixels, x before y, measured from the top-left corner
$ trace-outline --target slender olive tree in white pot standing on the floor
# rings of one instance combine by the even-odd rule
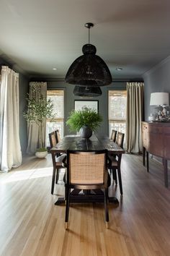
[[[36,99],[34,97],[27,98],[27,103],[27,111],[24,112],[24,118],[30,124],[36,123],[40,132],[39,148],[37,148],[35,155],[38,158],[45,158],[48,154],[48,150],[45,148],[45,142],[42,142],[42,128],[46,119],[54,117],[53,102],[43,95],[40,95],[40,98]]]

